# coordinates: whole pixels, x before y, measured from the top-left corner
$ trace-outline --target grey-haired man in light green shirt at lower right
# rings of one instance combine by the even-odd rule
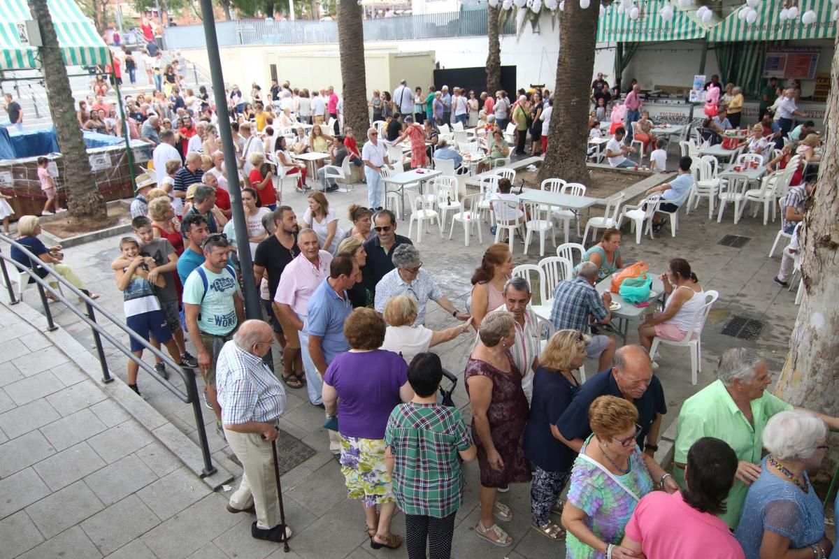
[[[717,380],[690,396],[682,404],[676,424],[674,476],[685,487],[685,463],[690,446],[701,437],[717,437],[737,454],[737,481],[726,499],[726,512],[720,515],[732,528],[737,527],[748,486],[760,475],[763,456],[763,427],[779,411],[793,406],[766,391],[772,383],[769,367],[753,349],[732,348],[720,357]],[[832,430],[839,419],[811,411]]]

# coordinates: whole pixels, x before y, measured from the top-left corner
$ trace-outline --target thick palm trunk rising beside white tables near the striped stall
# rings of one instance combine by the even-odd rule
[[[597,4],[580,8],[566,2],[560,16],[560,56],[556,64],[554,109],[550,116],[548,153],[539,180],[559,177],[586,184],[586,137],[594,47],[597,43]]]

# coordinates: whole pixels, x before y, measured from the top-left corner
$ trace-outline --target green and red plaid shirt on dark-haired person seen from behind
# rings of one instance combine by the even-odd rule
[[[406,515],[443,518],[463,503],[457,451],[472,446],[454,407],[409,402],[393,409],[384,442],[396,457],[393,496]]]

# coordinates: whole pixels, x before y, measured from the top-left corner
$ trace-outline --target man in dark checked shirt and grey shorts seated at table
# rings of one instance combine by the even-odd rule
[[[597,320],[607,324],[612,319],[609,304],[612,294],[597,295],[594,283],[597,282],[597,264],[581,262],[574,279],[559,282],[555,287],[554,306],[550,309],[550,323],[557,330],[578,330],[581,334],[589,333],[589,324]],[[611,336],[596,335],[586,345],[586,355],[597,359],[597,369],[605,370],[612,363],[615,354],[615,340]],[[588,408],[586,408],[588,409]]]

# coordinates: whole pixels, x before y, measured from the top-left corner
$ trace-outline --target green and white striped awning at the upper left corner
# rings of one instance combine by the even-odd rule
[[[18,25],[32,19],[26,0],[0,0],[0,70],[38,68],[38,48],[21,40]],[[108,64],[111,53],[73,0],[47,0],[66,65]]]

